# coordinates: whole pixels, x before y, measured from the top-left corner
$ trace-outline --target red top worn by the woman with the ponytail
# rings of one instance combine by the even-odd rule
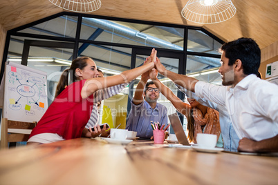
[[[93,107],[93,95],[86,99],[81,97],[85,81],[69,85],[56,97],[32,130],[30,137],[41,133],[57,133],[64,139],[81,137]]]

